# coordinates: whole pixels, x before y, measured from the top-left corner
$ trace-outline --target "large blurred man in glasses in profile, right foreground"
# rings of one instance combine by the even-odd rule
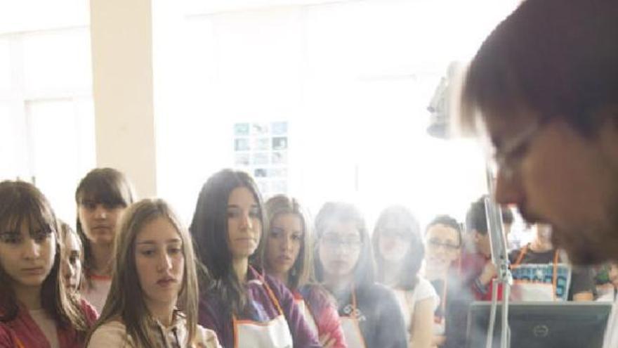
[[[481,121],[494,148],[497,202],[550,224],[576,264],[618,259],[618,1],[523,1],[473,58],[461,102],[463,129]]]

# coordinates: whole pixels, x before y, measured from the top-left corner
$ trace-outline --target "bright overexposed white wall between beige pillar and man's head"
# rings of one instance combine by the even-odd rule
[[[171,20],[175,49],[155,39],[155,76],[166,71],[155,90],[169,98],[157,117],[169,130],[157,138],[159,193],[188,221],[206,178],[233,165],[232,124],[287,120],[290,193],[314,213],[350,200],[371,221],[402,202],[422,221],[461,219],[485,191],[484,157],[474,143],[427,136],[426,107],[448,63],[469,58],[513,6],[186,1]]]

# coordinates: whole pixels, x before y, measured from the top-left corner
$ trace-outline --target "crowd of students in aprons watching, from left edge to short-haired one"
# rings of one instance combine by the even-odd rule
[[[89,172],[75,200],[77,232],[31,184],[0,183],[0,347],[443,343],[444,302],[405,207],[384,210],[370,238],[353,205],[327,202],[312,223],[230,169],[204,183],[189,228],[163,200],[136,201],[115,169]],[[447,245],[435,240],[449,231],[427,233]],[[455,258],[428,250],[436,259],[428,275],[445,283]]]

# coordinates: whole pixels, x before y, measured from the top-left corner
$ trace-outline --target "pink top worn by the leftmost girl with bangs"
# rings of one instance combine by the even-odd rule
[[[96,309],[86,300],[81,300],[81,310],[86,314],[88,325],[91,326],[98,314]],[[77,331],[72,327],[56,328],[58,342],[63,348],[81,348],[84,346],[84,338],[77,335]],[[6,323],[0,322],[0,348],[50,348],[43,331],[34,322],[27,309],[20,306],[17,318]]]

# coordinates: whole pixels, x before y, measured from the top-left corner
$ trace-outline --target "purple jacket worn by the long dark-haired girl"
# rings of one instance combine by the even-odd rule
[[[283,283],[268,275],[262,276],[272,293],[279,300],[283,314],[287,320],[294,347],[321,347],[311,328],[305,322],[303,314],[294,303],[294,296]],[[261,282],[258,271],[249,267],[247,273],[247,295],[249,296],[249,311],[237,316],[239,320],[258,322],[270,321],[279,316],[277,307],[272,303],[268,292]],[[232,318],[225,315],[225,307],[217,294],[206,292],[199,298],[199,324],[217,333],[221,345],[225,348],[234,347],[234,331]]]

